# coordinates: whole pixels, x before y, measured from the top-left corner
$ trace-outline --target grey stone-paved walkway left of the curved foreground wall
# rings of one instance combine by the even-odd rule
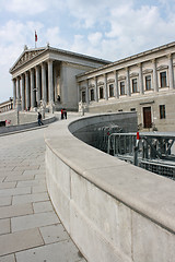
[[[44,132],[0,136],[0,262],[85,262],[47,193]]]

